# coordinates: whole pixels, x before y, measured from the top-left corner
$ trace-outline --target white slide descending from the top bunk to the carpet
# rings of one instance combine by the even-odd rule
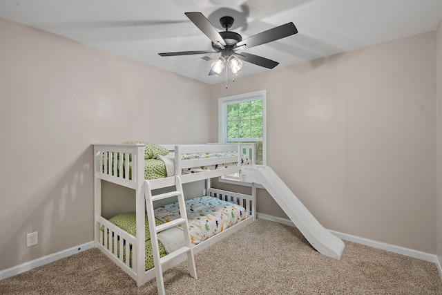
[[[344,242],[320,225],[273,169],[266,165],[243,166],[241,177],[243,181],[256,182],[265,187],[320,254],[340,259],[345,248]]]

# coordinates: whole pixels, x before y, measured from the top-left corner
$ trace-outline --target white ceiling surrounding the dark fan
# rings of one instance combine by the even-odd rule
[[[282,68],[319,57],[435,30],[442,0],[2,0],[0,17],[25,23],[208,84],[218,55],[160,57],[157,53],[211,50],[211,41],[184,12],[198,11],[220,31],[220,17],[245,39],[293,22],[298,34],[246,50]],[[268,71],[245,63],[238,76]]]

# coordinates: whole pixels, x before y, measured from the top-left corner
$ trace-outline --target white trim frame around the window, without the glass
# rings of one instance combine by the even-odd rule
[[[247,102],[248,100],[262,99],[262,164],[267,165],[267,91],[254,91],[250,93],[242,93],[218,99],[218,142],[227,142],[227,104],[229,102]],[[241,184],[250,186],[247,182],[240,180],[232,180],[219,178],[220,182],[231,184]]]

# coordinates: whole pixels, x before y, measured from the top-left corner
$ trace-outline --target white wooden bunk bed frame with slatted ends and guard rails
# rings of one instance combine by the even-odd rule
[[[245,208],[247,218],[236,223],[228,229],[222,230],[219,234],[212,236],[197,245],[192,245],[193,254],[202,251],[213,245],[218,240],[229,234],[242,229],[256,218],[256,186],[252,184],[251,194],[235,193],[213,189],[209,186],[210,178],[222,175],[239,173],[241,169],[242,156],[246,154],[255,159],[253,144],[199,144],[199,145],[164,145],[169,151],[175,153],[175,175],[184,184],[199,180],[208,180],[206,196],[217,198],[239,204]],[[194,158],[189,160],[186,155],[195,153],[231,152],[229,155],[217,156],[214,158]],[[187,159],[187,160],[184,160]],[[147,197],[145,198],[146,187],[149,193],[153,189],[174,187],[175,177],[159,178],[146,182],[144,172],[144,144],[94,144],[94,235],[95,247],[100,249],[108,258],[114,261],[124,272],[131,276],[137,285],[144,285],[148,280],[155,278],[155,267],[146,270],[145,266],[145,216]],[[191,167],[202,167],[233,163],[224,169],[202,170],[198,173],[183,174],[183,171]],[[224,165],[225,166],[225,165]],[[135,190],[135,219],[136,236],[129,234],[117,225],[108,221],[102,216],[102,180],[122,185]],[[146,193],[146,196],[149,194]],[[150,204],[150,206],[153,206]],[[152,228],[151,228],[152,232]],[[106,233],[106,234],[105,234]],[[107,237],[106,237],[107,236]],[[152,235],[151,235],[152,236]],[[156,237],[156,234],[155,234]],[[126,247],[130,245],[130,247]],[[126,259],[126,258],[129,259]],[[162,265],[162,271],[186,260],[186,256],[177,256]]]

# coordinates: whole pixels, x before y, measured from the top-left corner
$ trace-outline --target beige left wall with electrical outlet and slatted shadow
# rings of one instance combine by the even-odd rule
[[[91,144],[208,142],[209,90],[0,19],[0,269],[93,240]]]

